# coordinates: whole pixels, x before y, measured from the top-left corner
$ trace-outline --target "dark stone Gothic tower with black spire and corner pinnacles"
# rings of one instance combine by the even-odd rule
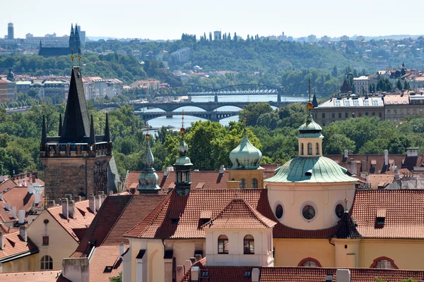
[[[63,125],[59,135],[47,137],[43,116],[40,159],[45,167],[45,195],[59,197],[103,191],[107,194],[107,164],[112,157],[109,120],[105,135],[95,135],[93,116],[88,118],[80,68],[73,67]]]

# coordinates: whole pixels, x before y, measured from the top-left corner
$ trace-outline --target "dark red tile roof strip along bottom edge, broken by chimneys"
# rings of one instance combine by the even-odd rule
[[[207,266],[196,263],[200,271],[208,271],[209,282],[232,282],[245,281],[250,282],[252,278],[245,278],[246,271],[252,271],[254,268],[260,269],[261,282],[323,282],[327,275],[332,276],[333,282],[336,282],[337,269],[322,267],[257,267],[257,266]],[[350,269],[351,282],[375,282],[375,278],[382,278],[382,281],[401,281],[408,278],[421,281],[424,277],[424,271],[418,270],[399,270],[399,269]],[[181,282],[190,282],[191,273],[187,273]]]

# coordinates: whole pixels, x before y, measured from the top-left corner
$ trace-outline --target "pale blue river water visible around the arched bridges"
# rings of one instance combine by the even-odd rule
[[[214,96],[194,96],[192,97],[192,102],[213,102]],[[247,96],[239,96],[239,95],[231,95],[231,96],[218,96],[219,102],[269,102],[269,101],[277,101],[277,95],[247,95]],[[282,102],[306,102],[307,96],[303,97],[294,97],[294,96],[281,96]],[[204,111],[196,106],[182,106],[181,108],[175,111]],[[144,109],[144,111],[163,111],[161,109]],[[218,108],[218,111],[240,111],[240,108],[236,106],[221,106]],[[228,125],[230,121],[238,121],[238,116],[231,116],[230,118],[223,118],[220,120],[220,124]],[[184,124],[189,125],[195,121],[206,121],[204,118],[196,118],[194,116],[184,116]],[[148,121],[148,124],[153,128],[160,128],[161,126],[174,126],[175,128],[181,127],[181,116],[172,116],[172,118],[167,118],[165,116],[161,116],[160,118],[153,118]]]

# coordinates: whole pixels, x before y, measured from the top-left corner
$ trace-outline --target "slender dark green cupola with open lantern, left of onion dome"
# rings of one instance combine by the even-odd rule
[[[175,168],[175,191],[179,196],[187,196],[189,195],[190,189],[192,188],[192,173],[190,169],[193,164],[190,161],[190,158],[187,157],[187,152],[189,150],[189,146],[184,141],[184,111],[182,116],[182,128],[179,130],[181,132],[181,141],[178,145],[179,157],[175,160],[174,168]]]

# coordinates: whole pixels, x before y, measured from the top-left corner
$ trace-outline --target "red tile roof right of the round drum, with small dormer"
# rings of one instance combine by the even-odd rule
[[[351,214],[364,238],[423,239],[423,205],[424,190],[358,190]]]

